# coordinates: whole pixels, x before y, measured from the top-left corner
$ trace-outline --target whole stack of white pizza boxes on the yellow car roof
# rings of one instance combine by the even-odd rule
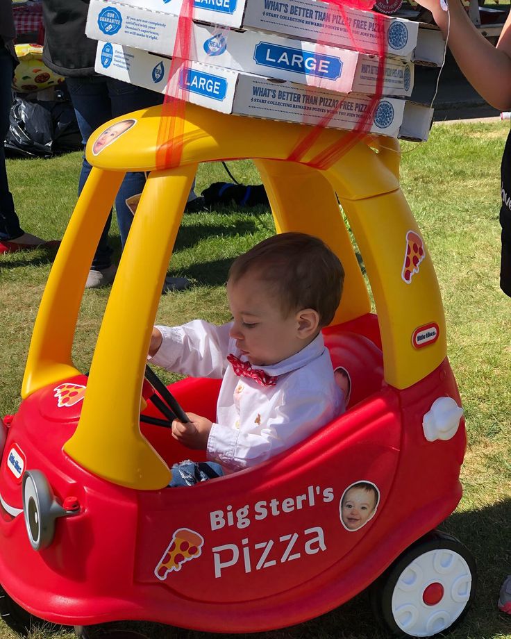
[[[437,29],[319,0],[194,0],[189,60],[175,70],[182,3],[91,0],[97,72],[162,94],[177,81],[188,101],[221,113],[351,130],[374,102],[385,50],[371,132],[427,139],[433,110],[407,98],[414,65],[442,64]]]

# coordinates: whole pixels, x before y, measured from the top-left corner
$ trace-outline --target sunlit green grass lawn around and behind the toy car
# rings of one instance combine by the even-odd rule
[[[499,290],[499,163],[508,124],[435,126],[426,144],[403,144],[401,183],[433,257],[444,299],[449,358],[467,415],[469,445],[462,468],[464,497],[444,529],[467,543],[478,563],[474,607],[453,639],[511,639],[509,617],[496,611],[499,586],[510,565],[511,522],[511,300]],[[12,160],[10,184],[27,231],[58,238],[76,199],[80,154],[51,160]],[[239,181],[257,183],[252,163],[230,163]],[[197,189],[228,181],[219,164],[202,165]],[[223,283],[234,256],[274,233],[264,208],[186,215],[171,274],[194,286],[162,297],[158,320],[228,318]],[[112,243],[119,253],[117,231]],[[37,306],[51,266],[44,251],[0,260],[0,414],[19,404],[19,388]],[[74,346],[87,370],[108,290],[87,291]],[[1,576],[0,576],[1,581]],[[203,633],[138,625],[151,637],[196,638]],[[12,636],[0,626],[0,639]],[[48,636],[48,634],[46,634]],[[342,608],[271,639],[379,639],[385,634],[362,593]],[[44,633],[42,638],[45,638]]]

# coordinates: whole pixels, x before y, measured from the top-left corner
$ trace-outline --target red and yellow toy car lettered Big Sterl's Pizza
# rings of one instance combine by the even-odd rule
[[[301,125],[189,106],[171,168],[157,144],[160,114],[133,113],[115,140],[97,131],[87,146],[94,168],[6,426],[6,601],[59,624],[150,620],[231,633],[308,620],[372,584],[378,617],[395,633],[447,631],[476,579],[469,551],[435,530],[462,495],[466,435],[433,264],[399,188],[397,143],[365,137],[320,171],[310,158],[346,133],[324,131],[303,163],[290,163]],[[201,453],[161,427],[167,394],[144,382],[151,327],[197,163],[242,157],[256,158],[278,232],[317,235],[342,258],[342,304],[324,334],[333,365],[351,378],[349,410],[257,467],[167,488],[169,467]],[[78,308],[126,170],[151,173],[86,376],[71,356]],[[218,380],[169,388],[185,410],[214,418]],[[343,498],[359,485],[373,495],[371,512],[345,516]]]

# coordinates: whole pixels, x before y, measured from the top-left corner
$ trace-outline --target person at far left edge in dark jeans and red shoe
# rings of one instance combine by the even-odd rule
[[[19,217],[9,190],[3,140],[9,130],[9,113],[12,105],[11,84],[17,65],[13,44],[15,35],[11,0],[0,0],[0,254],[58,244],[58,242],[46,242],[37,235],[25,233],[19,226]]]

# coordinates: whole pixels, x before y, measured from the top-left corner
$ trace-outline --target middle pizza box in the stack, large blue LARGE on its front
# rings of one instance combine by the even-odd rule
[[[91,0],[86,33],[94,40],[171,56],[177,26],[175,15],[128,7],[115,0]],[[376,56],[258,31],[232,31],[195,23],[192,28],[189,56],[194,62],[346,94],[376,91]],[[413,79],[413,63],[387,58],[383,94],[408,97]]]

